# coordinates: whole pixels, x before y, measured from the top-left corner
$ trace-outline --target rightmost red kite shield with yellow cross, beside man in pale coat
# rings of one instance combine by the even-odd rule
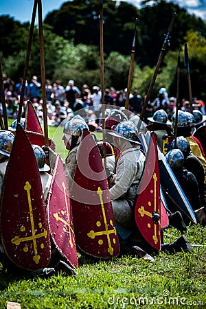
[[[150,133],[144,174],[138,187],[135,221],[144,239],[160,250],[160,184],[155,133]]]

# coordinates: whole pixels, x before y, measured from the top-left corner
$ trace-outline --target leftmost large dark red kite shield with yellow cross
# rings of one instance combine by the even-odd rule
[[[16,266],[33,271],[51,258],[49,227],[36,157],[23,128],[16,136],[1,201],[1,240]]]

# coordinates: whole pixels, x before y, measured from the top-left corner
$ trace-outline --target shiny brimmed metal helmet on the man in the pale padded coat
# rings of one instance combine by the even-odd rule
[[[135,124],[133,124],[133,122],[130,122],[129,120],[126,122],[120,122],[120,124],[117,124],[114,132],[108,134],[116,137],[121,137],[122,139],[126,139],[135,144],[140,144],[138,141],[137,126],[135,126]]]

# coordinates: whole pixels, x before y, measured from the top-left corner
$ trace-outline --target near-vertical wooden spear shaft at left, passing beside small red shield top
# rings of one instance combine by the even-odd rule
[[[48,146],[48,126],[47,126],[47,98],[46,98],[46,78],[45,78],[45,55],[43,42],[43,19],[42,19],[42,3],[38,0],[38,30],[40,43],[40,57],[41,57],[41,84],[42,84],[42,98],[43,98],[43,123],[45,133],[45,146]]]

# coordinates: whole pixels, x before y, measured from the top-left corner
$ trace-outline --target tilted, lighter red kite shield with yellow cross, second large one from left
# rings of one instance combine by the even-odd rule
[[[59,155],[56,158],[47,208],[49,209],[49,229],[58,251],[70,264],[77,267],[78,258],[69,190],[65,170]]]

